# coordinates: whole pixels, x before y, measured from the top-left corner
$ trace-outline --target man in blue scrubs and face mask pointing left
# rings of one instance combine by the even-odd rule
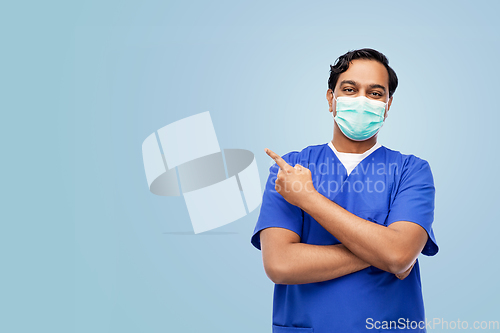
[[[273,332],[426,332],[418,255],[438,252],[429,164],[377,142],[398,79],[373,49],[330,66],[333,140],[282,157],[252,244],[275,283]]]

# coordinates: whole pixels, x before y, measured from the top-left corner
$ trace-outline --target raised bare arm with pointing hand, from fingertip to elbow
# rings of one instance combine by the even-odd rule
[[[309,213],[370,265],[398,275],[411,267],[427,241],[423,227],[406,221],[385,227],[364,220],[317,192],[309,169],[299,164],[292,167],[276,153],[268,149],[266,152],[280,167],[275,189],[286,201]]]

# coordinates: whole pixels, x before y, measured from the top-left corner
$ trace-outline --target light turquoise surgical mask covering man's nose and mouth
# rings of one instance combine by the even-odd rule
[[[351,140],[368,140],[377,134],[384,124],[387,103],[375,101],[365,96],[340,96],[335,101],[337,102],[337,114],[333,119],[342,133]]]

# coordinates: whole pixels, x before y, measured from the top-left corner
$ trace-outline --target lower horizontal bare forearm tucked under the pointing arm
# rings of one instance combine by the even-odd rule
[[[342,244],[300,243],[299,235],[284,228],[266,228],[260,240],[264,269],[277,284],[322,282],[370,266]]]

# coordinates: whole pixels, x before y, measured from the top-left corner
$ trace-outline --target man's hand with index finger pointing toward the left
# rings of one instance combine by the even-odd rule
[[[270,149],[264,149],[280,167],[275,181],[275,190],[285,198],[286,201],[301,207],[307,200],[309,200],[315,193],[318,193],[314,188],[311,170],[300,164],[295,164],[292,167],[286,163],[284,159]]]

